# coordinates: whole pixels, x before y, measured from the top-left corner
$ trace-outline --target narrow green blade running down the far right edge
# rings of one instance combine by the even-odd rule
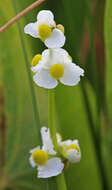
[[[105,34],[105,50],[106,50],[106,102],[108,109],[107,127],[108,135],[106,137],[106,148],[105,148],[105,160],[108,169],[108,177],[110,187],[112,188],[111,181],[111,162],[112,162],[112,1],[107,0],[105,6],[105,20],[104,20],[104,34]]]

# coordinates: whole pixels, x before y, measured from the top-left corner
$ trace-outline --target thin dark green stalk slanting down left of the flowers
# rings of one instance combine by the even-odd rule
[[[13,6],[14,6],[14,11],[17,14],[15,0],[12,0],[12,3],[13,3]],[[22,45],[22,49],[23,49],[23,54],[24,54],[24,59],[25,59],[25,64],[26,64],[26,70],[27,70],[27,74],[28,74],[30,92],[31,92],[31,96],[32,96],[32,104],[33,104],[34,118],[35,118],[35,133],[37,133],[38,140],[41,143],[39,113],[38,113],[38,108],[37,108],[35,91],[34,91],[34,87],[33,87],[33,83],[32,83],[32,76],[31,76],[31,72],[30,72],[30,68],[29,68],[28,55],[27,55],[27,52],[26,52],[25,42],[24,42],[24,38],[23,38],[23,35],[22,35],[22,30],[21,30],[21,25],[20,25],[19,21],[17,22],[17,25],[18,25],[18,31],[19,31],[19,35],[20,35],[20,41],[21,41],[21,45]]]

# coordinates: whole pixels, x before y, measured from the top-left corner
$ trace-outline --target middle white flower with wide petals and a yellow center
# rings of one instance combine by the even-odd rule
[[[36,66],[33,80],[40,87],[52,89],[59,81],[74,86],[84,75],[84,70],[72,63],[69,54],[62,48],[44,50],[39,63],[41,67]]]

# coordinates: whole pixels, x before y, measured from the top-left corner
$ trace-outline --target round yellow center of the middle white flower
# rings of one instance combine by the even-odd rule
[[[64,67],[61,64],[54,64],[50,68],[50,74],[53,78],[59,79],[64,74]]]

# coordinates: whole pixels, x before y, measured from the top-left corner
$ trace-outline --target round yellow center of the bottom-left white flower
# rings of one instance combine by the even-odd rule
[[[48,160],[48,154],[43,150],[35,150],[32,153],[32,158],[35,164],[44,165]]]

